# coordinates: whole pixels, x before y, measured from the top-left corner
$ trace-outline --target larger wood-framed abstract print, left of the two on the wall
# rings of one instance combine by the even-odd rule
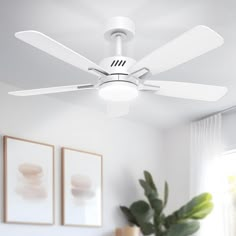
[[[4,221],[54,223],[54,146],[4,136]]]

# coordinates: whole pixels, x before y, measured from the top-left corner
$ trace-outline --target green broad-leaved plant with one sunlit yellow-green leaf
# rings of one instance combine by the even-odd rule
[[[144,171],[144,179],[140,179],[139,183],[144,189],[147,201],[135,201],[130,207],[120,206],[120,209],[131,225],[140,227],[143,235],[191,235],[199,230],[199,220],[205,218],[213,209],[211,194],[203,193],[166,216],[164,209],[169,192],[167,182],[163,199],[160,198],[152,175],[148,171]]]

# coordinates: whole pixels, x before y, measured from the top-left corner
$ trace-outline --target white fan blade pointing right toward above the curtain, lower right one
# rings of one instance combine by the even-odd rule
[[[200,101],[217,101],[227,93],[226,87],[174,81],[147,80],[144,90],[145,85],[156,86],[157,95]]]

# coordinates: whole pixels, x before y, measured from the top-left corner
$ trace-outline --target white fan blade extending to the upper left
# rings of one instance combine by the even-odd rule
[[[97,75],[95,71],[89,70],[90,68],[93,68],[106,73],[94,62],[38,31],[30,30],[17,32],[15,33],[15,37],[86,72]]]

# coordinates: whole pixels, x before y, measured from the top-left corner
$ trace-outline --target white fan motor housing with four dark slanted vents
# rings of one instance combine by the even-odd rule
[[[128,69],[134,65],[136,61],[130,57],[113,56],[104,58],[100,62],[100,66],[109,74],[124,74],[128,75]]]

